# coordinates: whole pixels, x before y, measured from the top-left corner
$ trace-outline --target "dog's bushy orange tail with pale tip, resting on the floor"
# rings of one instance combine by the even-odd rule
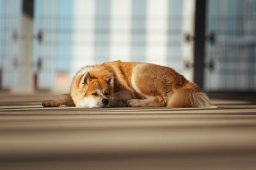
[[[180,89],[168,97],[167,107],[175,108],[205,108],[215,107],[211,104],[209,97],[200,91],[195,83],[186,82]]]

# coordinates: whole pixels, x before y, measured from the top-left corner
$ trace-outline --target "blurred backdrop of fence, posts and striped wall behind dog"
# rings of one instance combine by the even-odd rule
[[[0,40],[1,90],[68,90],[80,67],[112,60],[256,90],[253,0],[0,0]]]

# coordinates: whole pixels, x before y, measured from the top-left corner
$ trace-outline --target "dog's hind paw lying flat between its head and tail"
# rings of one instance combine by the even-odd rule
[[[130,99],[127,101],[130,107],[164,107],[165,103],[161,96],[150,96],[147,99]]]

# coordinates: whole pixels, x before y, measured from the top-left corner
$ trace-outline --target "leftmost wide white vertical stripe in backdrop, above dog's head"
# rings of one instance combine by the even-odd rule
[[[77,44],[72,46],[72,74],[75,75],[79,67],[84,64],[93,65],[95,57],[95,20],[96,18],[96,1],[95,0],[76,0],[73,1],[72,17],[72,42]],[[81,17],[84,16],[84,17]],[[83,20],[86,19],[86,22]],[[86,30],[87,34],[81,34],[80,29]],[[86,45],[81,45],[81,39],[86,39]]]

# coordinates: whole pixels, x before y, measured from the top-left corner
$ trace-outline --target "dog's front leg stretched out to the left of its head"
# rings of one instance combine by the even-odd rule
[[[61,106],[62,104],[65,104],[66,106],[75,106],[70,94],[62,94],[61,96],[57,97],[56,99],[44,101],[42,103],[42,106],[58,107],[58,106]]]

